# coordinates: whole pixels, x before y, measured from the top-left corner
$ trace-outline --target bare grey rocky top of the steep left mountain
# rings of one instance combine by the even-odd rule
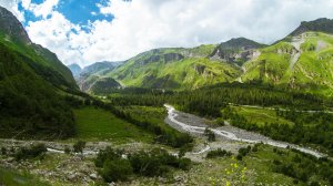
[[[31,43],[21,22],[7,9],[0,7],[0,33],[4,33],[13,41]]]

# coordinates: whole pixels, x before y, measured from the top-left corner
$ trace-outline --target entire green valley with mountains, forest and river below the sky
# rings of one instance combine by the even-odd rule
[[[85,66],[26,24],[0,7],[1,186],[333,185],[333,20]]]

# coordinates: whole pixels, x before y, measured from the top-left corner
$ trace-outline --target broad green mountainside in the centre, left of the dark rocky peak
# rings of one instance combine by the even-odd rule
[[[210,60],[215,45],[193,49],[154,49],[141,53],[108,76],[125,86],[185,90],[233,81],[241,74],[234,64]]]

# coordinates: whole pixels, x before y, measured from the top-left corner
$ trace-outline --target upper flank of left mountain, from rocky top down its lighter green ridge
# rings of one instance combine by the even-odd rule
[[[32,43],[17,18],[1,7],[0,25],[0,42],[10,50],[31,59],[29,65],[36,73],[59,89],[78,89],[72,73],[59,61],[57,55],[48,49]]]

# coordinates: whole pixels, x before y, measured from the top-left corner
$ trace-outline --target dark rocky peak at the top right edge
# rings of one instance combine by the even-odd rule
[[[333,33],[333,20],[320,18],[314,21],[302,21],[301,25],[290,35],[294,37],[309,31]]]

